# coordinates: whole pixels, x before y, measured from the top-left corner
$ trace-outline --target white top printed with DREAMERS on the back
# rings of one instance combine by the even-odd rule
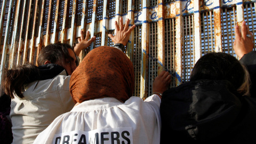
[[[160,102],[155,94],[145,101],[131,97],[125,103],[115,98],[84,101],[57,117],[34,143],[157,144]]]

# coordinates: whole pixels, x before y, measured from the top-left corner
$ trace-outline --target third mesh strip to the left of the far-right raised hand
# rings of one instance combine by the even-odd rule
[[[182,46],[182,79],[189,81],[191,70],[195,64],[194,53],[194,16],[183,17],[183,46]]]

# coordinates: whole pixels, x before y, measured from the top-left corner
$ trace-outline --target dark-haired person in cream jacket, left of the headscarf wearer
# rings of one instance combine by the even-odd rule
[[[29,63],[6,70],[4,91],[12,98],[10,118],[13,143],[33,143],[57,116],[75,103],[69,93],[69,79],[77,65],[68,44],[50,44],[41,50],[38,67]]]

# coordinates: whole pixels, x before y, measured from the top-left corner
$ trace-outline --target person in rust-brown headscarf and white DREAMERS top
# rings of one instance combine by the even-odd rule
[[[144,101],[133,97],[131,60],[115,47],[97,47],[71,75],[75,107],[57,117],[34,143],[159,143],[161,93],[170,82],[171,75],[162,71],[153,84],[155,94]]]

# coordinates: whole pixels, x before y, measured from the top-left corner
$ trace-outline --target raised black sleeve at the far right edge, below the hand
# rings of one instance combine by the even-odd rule
[[[256,51],[244,54],[244,56],[240,59],[240,62],[245,65],[249,71],[251,78],[251,97],[256,98]]]

